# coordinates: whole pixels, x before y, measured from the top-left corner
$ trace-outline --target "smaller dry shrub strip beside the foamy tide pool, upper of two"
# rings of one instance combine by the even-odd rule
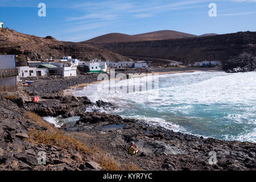
[[[53,133],[57,132],[56,127],[52,126],[50,123],[44,121],[39,115],[35,113],[27,113],[25,115],[27,119],[30,119],[30,121],[36,123],[36,125],[43,126],[47,128],[48,130],[52,131]]]

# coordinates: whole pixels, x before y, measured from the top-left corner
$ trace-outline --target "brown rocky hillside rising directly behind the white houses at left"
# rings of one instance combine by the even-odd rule
[[[26,60],[60,59],[69,55],[81,60],[98,57],[102,60],[129,60],[125,56],[108,51],[105,48],[95,47],[83,43],[60,42],[51,36],[39,38],[0,28],[0,54],[18,55],[18,65],[26,65]]]

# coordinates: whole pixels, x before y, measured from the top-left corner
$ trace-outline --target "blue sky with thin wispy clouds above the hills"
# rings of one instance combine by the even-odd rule
[[[46,4],[46,17],[38,4]],[[208,15],[216,3],[217,17]],[[24,34],[79,42],[119,32],[175,30],[189,34],[256,31],[256,0],[1,0],[0,21]]]

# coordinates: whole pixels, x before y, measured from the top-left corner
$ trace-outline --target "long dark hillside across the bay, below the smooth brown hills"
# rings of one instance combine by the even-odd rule
[[[256,32],[247,31],[196,38],[95,45],[124,56],[169,59],[183,61],[183,63],[185,63],[185,60],[186,63],[220,60],[222,64],[225,64],[228,60],[236,58],[243,53],[255,55]],[[225,68],[231,69],[232,65],[230,64],[230,67],[226,65]]]

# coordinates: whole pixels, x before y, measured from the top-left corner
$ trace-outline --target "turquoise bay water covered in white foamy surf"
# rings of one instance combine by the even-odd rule
[[[134,78],[134,84],[146,85],[155,77]],[[126,80],[112,82],[127,85]],[[119,107],[113,114],[174,131],[256,142],[256,72],[159,75],[159,88],[131,93],[110,93],[98,89],[100,84],[86,86],[75,95],[112,102]]]

